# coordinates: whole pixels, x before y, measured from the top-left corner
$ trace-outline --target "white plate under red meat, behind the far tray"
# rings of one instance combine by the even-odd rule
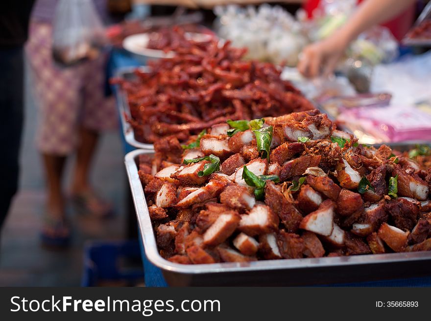
[[[213,36],[203,33],[186,32],[185,37],[187,39],[194,40],[195,42],[206,42],[209,41]],[[173,58],[175,53],[173,51],[165,52],[163,50],[147,48],[149,41],[149,33],[139,33],[131,35],[123,40],[123,48],[127,51],[135,54],[144,56],[147,58]]]

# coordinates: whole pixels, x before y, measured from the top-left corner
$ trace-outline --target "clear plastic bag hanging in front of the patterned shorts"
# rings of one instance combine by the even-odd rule
[[[102,22],[92,0],[60,0],[55,9],[52,54],[72,65],[96,59],[106,44]]]

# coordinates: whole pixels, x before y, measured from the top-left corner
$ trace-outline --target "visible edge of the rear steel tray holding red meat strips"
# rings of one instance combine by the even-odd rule
[[[116,77],[130,79],[134,77],[134,70],[136,70],[137,68],[139,68],[143,72],[148,71],[147,66],[119,68],[119,70],[116,72]],[[115,86],[115,91],[116,91],[116,97],[117,97],[117,105],[120,112],[121,127],[123,128],[124,139],[128,144],[130,144],[133,147],[141,148],[144,150],[153,150],[154,149],[153,144],[146,144],[136,140],[133,127],[126,121],[126,116],[129,119],[132,117],[130,115],[130,107],[129,107],[129,101],[127,99],[127,93],[125,93],[124,90],[122,90],[119,85]]]

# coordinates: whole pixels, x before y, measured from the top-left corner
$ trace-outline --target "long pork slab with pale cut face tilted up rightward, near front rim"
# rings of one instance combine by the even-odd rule
[[[204,244],[216,246],[223,243],[237,229],[239,220],[239,214],[234,211],[219,214],[216,221],[205,231]]]

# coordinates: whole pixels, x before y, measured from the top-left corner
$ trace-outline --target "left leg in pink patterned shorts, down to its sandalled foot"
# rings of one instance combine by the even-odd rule
[[[52,27],[33,22],[27,53],[39,103],[37,147],[42,154],[47,180],[47,201],[42,240],[47,245],[66,245],[70,234],[62,188],[67,156],[78,142],[82,93],[79,67],[61,68],[52,59]]]

